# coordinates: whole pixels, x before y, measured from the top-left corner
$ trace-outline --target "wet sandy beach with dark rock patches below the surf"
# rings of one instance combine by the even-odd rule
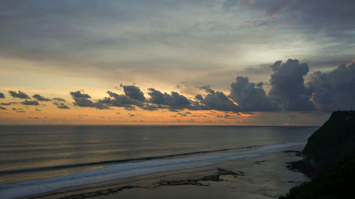
[[[300,159],[302,147],[199,169],[151,174],[68,188],[28,198],[275,198],[309,178],[286,163]]]

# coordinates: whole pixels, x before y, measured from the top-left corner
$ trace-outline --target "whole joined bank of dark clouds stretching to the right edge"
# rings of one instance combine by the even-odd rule
[[[204,95],[187,98],[175,91],[163,93],[148,89],[146,98],[137,86],[121,85],[124,94],[107,91],[109,97],[92,101],[91,96],[81,91],[72,91],[75,106],[107,109],[123,107],[135,110],[170,111],[221,110],[221,111],[315,111],[332,112],[339,109],[355,109],[355,62],[341,64],[329,73],[315,72],[310,81],[305,82],[309,67],[297,59],[275,62],[270,66],[270,88],[263,89],[263,82],[255,84],[248,77],[237,76],[231,83],[227,96],[214,91],[210,86],[202,86]],[[20,92],[20,91],[19,91]],[[59,107],[58,107],[59,108]]]

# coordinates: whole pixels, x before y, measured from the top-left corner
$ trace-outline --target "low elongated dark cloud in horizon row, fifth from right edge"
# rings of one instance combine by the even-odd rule
[[[168,106],[170,109],[184,109],[191,107],[191,101],[185,96],[180,95],[178,92],[172,91],[171,94],[162,93],[153,88],[148,89],[148,95],[150,103],[155,103],[158,105]]]

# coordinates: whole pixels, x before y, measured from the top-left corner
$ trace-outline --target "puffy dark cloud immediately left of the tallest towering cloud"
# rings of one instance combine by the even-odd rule
[[[259,87],[262,84],[259,83]],[[256,88],[254,83],[249,82],[248,77],[237,76],[236,82],[231,83],[229,97],[238,103],[243,111],[271,111],[277,110],[261,88]]]

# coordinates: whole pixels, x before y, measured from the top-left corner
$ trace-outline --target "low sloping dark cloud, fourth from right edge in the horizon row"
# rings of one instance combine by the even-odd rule
[[[222,110],[222,111],[239,111],[240,108],[231,101],[223,92],[214,91],[209,86],[202,87],[207,92],[206,96],[197,95],[195,98],[200,102],[200,106],[195,105],[194,108],[202,110]]]

